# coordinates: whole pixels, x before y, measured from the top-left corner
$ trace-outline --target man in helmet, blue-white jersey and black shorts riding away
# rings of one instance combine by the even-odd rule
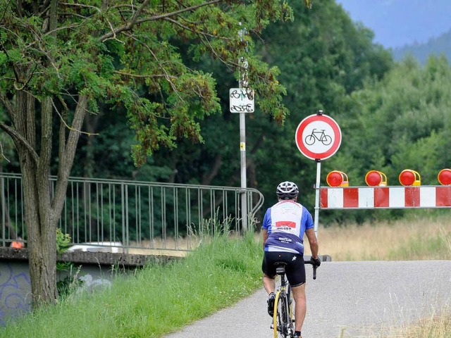
[[[295,337],[301,338],[306,313],[304,233],[309,240],[311,263],[321,265],[314,223],[307,208],[297,203],[299,189],[293,182],[281,182],[276,190],[278,203],[268,208],[263,219],[263,285],[268,292],[268,314],[273,316],[276,262],[285,262],[285,272],[295,299]]]

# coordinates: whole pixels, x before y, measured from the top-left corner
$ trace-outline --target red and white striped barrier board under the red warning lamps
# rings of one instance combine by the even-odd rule
[[[321,187],[321,209],[450,208],[451,186]]]

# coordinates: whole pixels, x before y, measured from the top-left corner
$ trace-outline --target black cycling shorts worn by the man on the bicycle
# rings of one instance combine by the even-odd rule
[[[287,263],[285,274],[292,287],[299,287],[305,283],[304,256],[300,253],[265,251],[261,270],[268,277],[276,277],[277,262]]]

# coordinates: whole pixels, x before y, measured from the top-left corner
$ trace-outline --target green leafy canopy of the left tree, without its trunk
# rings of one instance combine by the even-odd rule
[[[136,132],[135,165],[143,165],[161,145],[173,149],[179,139],[202,143],[199,121],[221,110],[216,81],[209,72],[188,68],[190,58],[210,55],[236,77],[237,59],[247,58],[247,82],[259,95],[257,104],[276,120],[285,118],[285,89],[276,68],[254,56],[253,39],[269,23],[291,17],[287,3],[122,5],[118,0],[102,6],[98,1],[58,4],[58,15],[44,21],[39,4],[2,4],[3,94],[25,86],[38,99],[51,96],[68,109],[68,121],[73,98],[80,94],[89,96],[91,113],[103,113],[99,103],[124,106]],[[242,37],[240,27],[247,32]],[[178,49],[178,41],[187,43],[189,54]]]

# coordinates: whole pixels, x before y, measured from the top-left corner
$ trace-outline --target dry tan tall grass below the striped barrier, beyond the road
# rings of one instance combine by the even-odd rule
[[[333,261],[451,259],[446,217],[320,227],[318,237],[321,253]]]

